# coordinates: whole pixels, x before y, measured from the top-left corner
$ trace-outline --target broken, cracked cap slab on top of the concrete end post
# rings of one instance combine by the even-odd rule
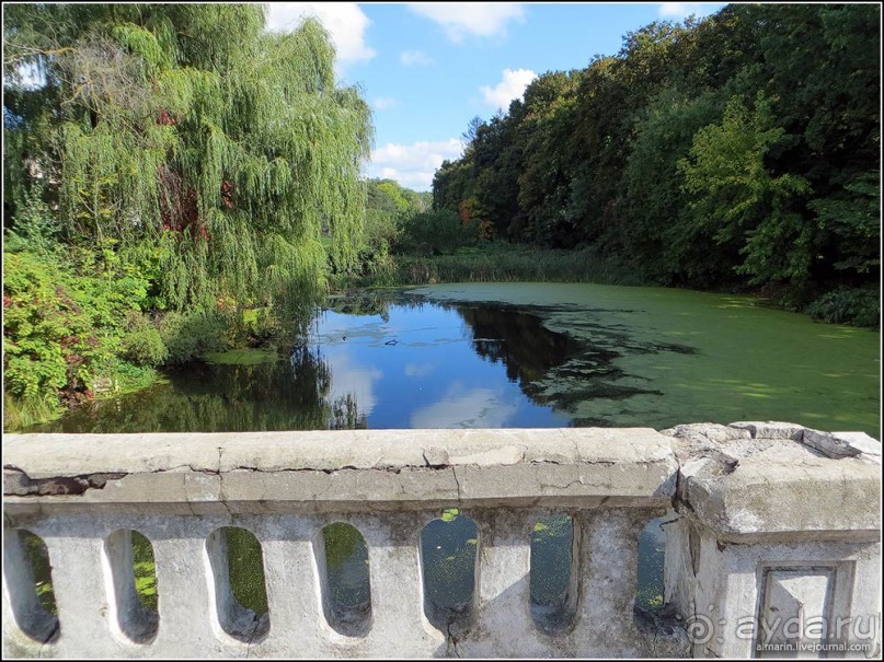
[[[753,437],[758,431],[772,438]],[[880,535],[881,444],[866,435],[848,440],[772,422],[701,423],[664,432],[674,435],[681,465],[680,512],[722,541],[770,535],[874,541]],[[819,450],[824,443],[838,449],[837,457]]]

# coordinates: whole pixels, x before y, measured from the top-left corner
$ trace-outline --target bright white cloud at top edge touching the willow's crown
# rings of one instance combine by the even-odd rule
[[[315,16],[329,31],[338,66],[375,57],[375,49],[365,43],[365,31],[371,22],[355,2],[271,2],[267,30],[294,30],[305,16]]]

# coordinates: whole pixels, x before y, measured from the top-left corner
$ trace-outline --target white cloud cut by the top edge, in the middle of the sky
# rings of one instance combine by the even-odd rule
[[[441,25],[452,42],[467,36],[503,36],[509,21],[525,19],[518,2],[410,2],[407,7]]]

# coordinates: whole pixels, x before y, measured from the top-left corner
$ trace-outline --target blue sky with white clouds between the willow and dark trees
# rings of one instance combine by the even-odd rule
[[[338,83],[370,104],[369,177],[429,190],[445,159],[460,156],[471,118],[490,119],[547,71],[615,55],[654,21],[715,13],[722,2],[273,2],[267,27],[318,18],[337,49]]]

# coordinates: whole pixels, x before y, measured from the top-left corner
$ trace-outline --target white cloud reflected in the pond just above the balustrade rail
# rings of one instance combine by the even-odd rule
[[[452,384],[444,399],[412,414],[411,427],[502,428],[517,411],[518,406],[505,402],[501,392],[466,391],[462,384]]]

